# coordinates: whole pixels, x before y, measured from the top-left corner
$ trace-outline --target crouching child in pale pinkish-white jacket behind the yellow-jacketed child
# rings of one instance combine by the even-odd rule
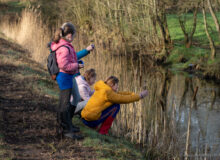
[[[88,100],[94,93],[94,91],[91,90],[90,86],[92,86],[96,81],[95,69],[89,69],[85,71],[83,76],[77,76],[75,79],[79,89],[79,94],[81,96],[81,102],[77,104],[75,109],[76,114],[85,107]]]

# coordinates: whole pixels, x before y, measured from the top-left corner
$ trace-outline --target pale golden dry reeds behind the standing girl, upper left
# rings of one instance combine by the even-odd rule
[[[8,16],[3,17],[0,28],[8,38],[24,46],[35,61],[46,64],[51,31],[43,24],[36,9],[23,10],[16,21],[11,21]]]

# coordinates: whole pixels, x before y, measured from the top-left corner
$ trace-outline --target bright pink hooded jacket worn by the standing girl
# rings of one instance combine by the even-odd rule
[[[69,47],[70,53],[66,47],[60,47],[62,45]],[[51,49],[53,51],[56,50],[58,47],[60,48],[56,51],[56,58],[58,67],[60,68],[60,72],[68,74],[78,73],[79,67],[77,56],[72,44],[61,38],[59,43],[53,42],[51,44]]]

